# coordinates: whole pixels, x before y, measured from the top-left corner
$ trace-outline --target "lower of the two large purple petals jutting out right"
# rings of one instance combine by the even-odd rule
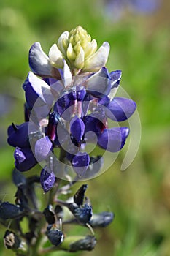
[[[110,152],[120,151],[125,144],[128,133],[128,127],[104,129],[104,132],[98,136],[98,146],[101,146],[101,148],[104,148]]]

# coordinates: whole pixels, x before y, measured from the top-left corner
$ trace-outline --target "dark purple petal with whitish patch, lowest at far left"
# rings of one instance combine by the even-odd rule
[[[37,163],[31,148],[15,148],[15,167],[20,171],[29,170]]]

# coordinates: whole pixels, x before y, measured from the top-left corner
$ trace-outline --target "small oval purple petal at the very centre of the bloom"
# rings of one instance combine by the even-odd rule
[[[85,132],[85,124],[83,123],[82,119],[78,118],[77,116],[72,118],[70,121],[70,132],[77,142],[80,142]]]

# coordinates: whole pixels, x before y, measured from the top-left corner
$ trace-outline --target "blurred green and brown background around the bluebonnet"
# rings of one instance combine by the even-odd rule
[[[96,230],[96,249],[75,255],[169,256],[170,3],[161,1],[158,10],[148,14],[125,10],[119,20],[114,12],[107,15],[105,6],[104,0],[1,0],[0,199],[14,200],[13,148],[6,142],[7,127],[12,121],[23,122],[21,86],[29,70],[28,50],[41,42],[48,53],[63,31],[80,25],[97,39],[98,46],[109,42],[107,67],[123,71],[120,85],[137,103],[142,138],[127,170],[120,171],[122,152],[106,173],[88,181],[93,210],[114,211],[115,220]],[[2,226],[0,236],[0,255],[14,255],[4,249]]]

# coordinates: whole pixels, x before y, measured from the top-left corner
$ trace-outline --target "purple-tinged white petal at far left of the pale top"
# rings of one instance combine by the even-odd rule
[[[29,50],[29,65],[36,75],[51,76],[52,67],[49,58],[39,42],[35,42]]]

